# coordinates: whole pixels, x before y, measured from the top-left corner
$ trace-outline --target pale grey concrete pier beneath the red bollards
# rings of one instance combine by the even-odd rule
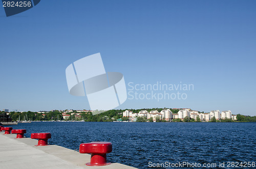
[[[37,140],[31,138],[18,138],[16,134],[3,135],[0,132],[0,168],[135,168],[119,163],[105,166],[88,166],[90,154],[80,154],[77,151],[56,145],[35,146]]]

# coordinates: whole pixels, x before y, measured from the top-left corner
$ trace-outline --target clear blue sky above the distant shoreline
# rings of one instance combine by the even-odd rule
[[[65,69],[100,53],[106,71],[123,74],[127,92],[130,82],[194,85],[179,91],[184,100],[128,95],[118,109],[256,115],[255,9],[256,1],[242,0],[44,0],[6,17],[0,7],[0,109],[90,109],[86,97],[69,94]]]

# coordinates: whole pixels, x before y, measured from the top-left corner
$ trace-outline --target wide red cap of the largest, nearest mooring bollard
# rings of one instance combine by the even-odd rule
[[[94,154],[106,154],[112,152],[112,143],[95,141],[88,143],[81,143],[79,153],[94,153]]]

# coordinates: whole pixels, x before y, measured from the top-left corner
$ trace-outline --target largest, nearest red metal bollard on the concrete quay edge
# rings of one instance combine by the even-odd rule
[[[79,147],[79,153],[91,153],[91,162],[86,165],[101,166],[109,165],[110,162],[106,162],[106,153],[112,152],[111,142],[88,142],[81,143]]]

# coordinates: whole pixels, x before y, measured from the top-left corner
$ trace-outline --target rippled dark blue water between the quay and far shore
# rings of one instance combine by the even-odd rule
[[[73,150],[83,142],[109,141],[109,161],[138,168],[148,168],[150,161],[225,162],[225,168],[232,168],[227,161],[256,162],[256,123],[33,122],[12,127],[27,129],[27,137],[50,132],[49,143]]]

